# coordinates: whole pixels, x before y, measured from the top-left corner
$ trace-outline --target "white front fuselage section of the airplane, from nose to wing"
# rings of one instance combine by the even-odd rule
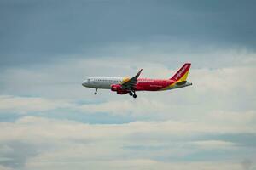
[[[112,84],[119,84],[123,79],[123,77],[89,77],[82,84],[87,88],[110,89]]]

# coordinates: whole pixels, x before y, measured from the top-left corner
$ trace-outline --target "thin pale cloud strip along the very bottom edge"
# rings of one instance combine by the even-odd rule
[[[79,161],[79,162],[37,162],[33,159],[31,162],[26,164],[26,169],[122,169],[122,170],[131,170],[131,169],[143,169],[143,170],[156,170],[156,169],[199,169],[199,170],[242,170],[240,163],[236,162],[179,162],[179,163],[170,163],[154,160],[115,160],[115,161]]]

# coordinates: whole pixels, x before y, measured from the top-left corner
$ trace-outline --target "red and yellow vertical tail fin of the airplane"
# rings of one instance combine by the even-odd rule
[[[188,75],[189,75],[189,69],[190,69],[191,63],[185,63],[178,71],[175,73],[175,75],[170,78],[170,80],[173,80],[175,82],[184,82],[186,81]]]

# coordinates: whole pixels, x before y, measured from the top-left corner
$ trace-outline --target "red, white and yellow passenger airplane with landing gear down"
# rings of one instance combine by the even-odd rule
[[[130,94],[133,98],[137,98],[137,91],[162,91],[192,85],[191,82],[187,82],[190,65],[185,63],[169,79],[138,78],[143,71],[141,69],[135,77],[89,77],[82,82],[82,85],[86,88],[95,88],[94,94],[97,94],[98,88],[102,88],[111,89],[117,94]]]

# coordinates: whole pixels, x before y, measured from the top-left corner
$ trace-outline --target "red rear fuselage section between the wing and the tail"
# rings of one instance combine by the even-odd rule
[[[136,84],[137,91],[157,91],[162,88],[166,88],[167,86],[173,84],[175,81],[173,80],[165,80],[165,79],[148,79],[148,78],[138,78]]]

